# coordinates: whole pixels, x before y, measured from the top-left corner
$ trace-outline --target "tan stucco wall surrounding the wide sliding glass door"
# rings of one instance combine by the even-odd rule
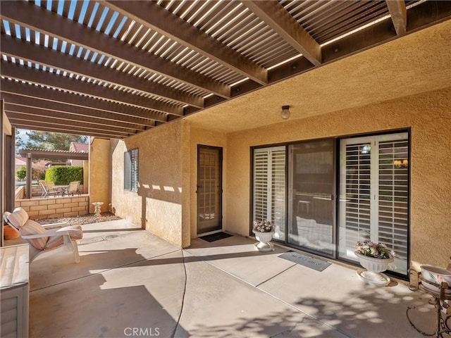
[[[411,128],[411,260],[451,254],[451,88],[228,134],[226,230],[249,234],[250,147]],[[233,179],[232,179],[233,178]]]

